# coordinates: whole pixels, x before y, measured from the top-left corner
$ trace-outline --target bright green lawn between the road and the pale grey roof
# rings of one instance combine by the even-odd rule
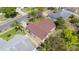
[[[21,31],[21,30],[16,31],[15,30],[15,27],[13,27],[10,30],[7,30],[7,31],[1,33],[0,34],[0,38],[8,41],[11,38],[13,38],[16,34],[25,34],[25,32],[24,31]]]

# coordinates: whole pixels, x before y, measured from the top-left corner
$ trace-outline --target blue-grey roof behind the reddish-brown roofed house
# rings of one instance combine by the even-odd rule
[[[60,9],[56,13],[50,13],[50,14],[48,14],[48,16],[50,18],[52,18],[52,19],[57,19],[58,17],[63,17],[65,19],[67,19],[71,15],[72,15],[72,13],[70,11],[65,10],[65,9]]]

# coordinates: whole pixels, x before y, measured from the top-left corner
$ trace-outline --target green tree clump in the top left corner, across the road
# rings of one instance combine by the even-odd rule
[[[0,13],[4,13],[6,18],[13,18],[17,15],[15,7],[2,7]]]

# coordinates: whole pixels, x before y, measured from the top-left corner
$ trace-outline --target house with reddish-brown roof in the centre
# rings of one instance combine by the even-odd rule
[[[29,23],[27,28],[31,35],[44,42],[50,33],[55,30],[55,24],[50,19],[42,18],[39,23]]]

